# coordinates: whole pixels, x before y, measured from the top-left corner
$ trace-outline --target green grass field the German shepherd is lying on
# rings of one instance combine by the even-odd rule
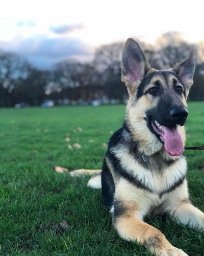
[[[150,255],[118,237],[100,190],[86,185],[88,176],[55,172],[55,166],[101,168],[102,144],[122,125],[124,112],[123,105],[0,110],[0,255]],[[189,103],[187,146],[204,145],[203,116],[204,103]],[[70,150],[74,143],[82,147]],[[184,154],[191,201],[204,211],[204,152]],[[173,246],[204,255],[203,234],[168,218],[146,221]]]

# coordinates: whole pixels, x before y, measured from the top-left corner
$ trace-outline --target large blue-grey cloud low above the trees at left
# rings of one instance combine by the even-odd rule
[[[68,58],[88,59],[92,54],[90,47],[78,38],[46,36],[16,38],[10,42],[0,41],[0,49],[23,55],[35,67],[41,69],[52,68],[56,62]]]

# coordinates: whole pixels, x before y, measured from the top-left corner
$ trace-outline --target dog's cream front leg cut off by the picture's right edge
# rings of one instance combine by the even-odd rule
[[[204,213],[188,200],[182,200],[175,206],[173,216],[182,224],[189,224],[198,231],[204,231]]]

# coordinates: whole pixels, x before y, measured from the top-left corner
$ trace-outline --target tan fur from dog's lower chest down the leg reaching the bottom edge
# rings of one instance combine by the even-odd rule
[[[127,210],[127,213],[114,223],[121,238],[140,242],[156,255],[187,255],[173,247],[158,229],[142,221],[152,205],[159,206],[168,196],[160,200],[156,195],[121,179],[116,187],[115,198],[121,200]]]

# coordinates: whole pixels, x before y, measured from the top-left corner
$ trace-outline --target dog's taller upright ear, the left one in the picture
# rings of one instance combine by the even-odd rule
[[[127,39],[122,52],[121,80],[129,94],[135,93],[149,69],[150,65],[137,42],[132,38]]]

